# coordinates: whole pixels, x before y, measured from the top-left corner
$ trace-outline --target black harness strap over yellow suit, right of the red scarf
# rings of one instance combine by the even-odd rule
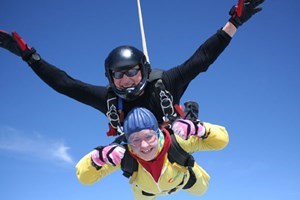
[[[178,144],[176,137],[172,130],[168,130],[171,138],[172,138],[172,144],[170,146],[170,149],[168,151],[168,159],[171,163],[177,163],[181,166],[185,167],[193,167],[195,163],[194,157],[183,150],[180,145]]]

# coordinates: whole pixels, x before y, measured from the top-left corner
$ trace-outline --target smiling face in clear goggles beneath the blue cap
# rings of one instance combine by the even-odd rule
[[[158,153],[158,136],[153,130],[144,129],[132,133],[128,143],[133,153],[145,161],[153,160]]]

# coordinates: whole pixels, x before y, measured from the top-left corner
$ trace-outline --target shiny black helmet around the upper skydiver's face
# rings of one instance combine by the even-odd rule
[[[133,89],[117,89],[112,78],[112,71],[127,70],[136,65],[141,68],[141,82]],[[144,91],[150,71],[151,67],[144,53],[132,46],[119,46],[112,50],[105,59],[105,76],[109,85],[119,97],[126,100],[134,100]]]

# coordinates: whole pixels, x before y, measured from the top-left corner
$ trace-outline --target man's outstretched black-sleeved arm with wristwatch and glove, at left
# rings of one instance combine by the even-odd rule
[[[21,57],[32,70],[57,92],[106,113],[107,88],[76,80],[63,70],[43,60],[18,33],[0,30],[0,47]]]

